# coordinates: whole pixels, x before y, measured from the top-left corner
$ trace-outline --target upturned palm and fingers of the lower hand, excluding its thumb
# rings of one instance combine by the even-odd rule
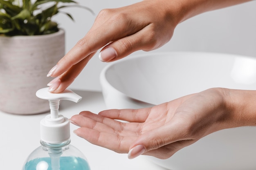
[[[170,103],[164,103],[138,110],[105,110],[98,115],[83,111],[74,115],[72,121],[81,127],[76,130],[77,135],[90,143],[115,152],[127,153],[132,142],[141,134],[164,126],[170,121],[181,101],[172,101],[172,107],[168,106]]]

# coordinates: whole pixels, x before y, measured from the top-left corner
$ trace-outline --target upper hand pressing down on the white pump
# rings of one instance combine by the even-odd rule
[[[117,9],[103,9],[88,33],[49,71],[48,77],[56,77],[48,84],[49,91],[59,93],[67,88],[102,47],[100,60],[112,62],[168,42],[180,18],[179,6],[167,2],[170,3],[144,0]]]

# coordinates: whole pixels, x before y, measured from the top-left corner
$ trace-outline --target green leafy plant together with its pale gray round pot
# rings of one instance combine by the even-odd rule
[[[73,20],[61,11],[65,7],[82,6],[73,0],[0,0],[0,110],[22,115],[49,110],[48,101],[35,93],[65,55],[65,31],[52,21],[58,13]]]

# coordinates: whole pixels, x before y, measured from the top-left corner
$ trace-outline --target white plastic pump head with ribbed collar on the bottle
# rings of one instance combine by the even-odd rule
[[[70,122],[63,115],[58,115],[60,100],[79,102],[82,97],[66,89],[62,93],[51,93],[48,88],[41,88],[36,96],[49,100],[51,114],[40,121],[41,140],[47,143],[60,143],[70,138]]]

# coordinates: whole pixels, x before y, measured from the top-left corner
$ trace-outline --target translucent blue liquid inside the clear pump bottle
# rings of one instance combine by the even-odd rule
[[[51,158],[38,158],[33,159],[25,164],[25,170],[53,170]],[[90,170],[90,167],[80,157],[60,157],[59,170]]]

